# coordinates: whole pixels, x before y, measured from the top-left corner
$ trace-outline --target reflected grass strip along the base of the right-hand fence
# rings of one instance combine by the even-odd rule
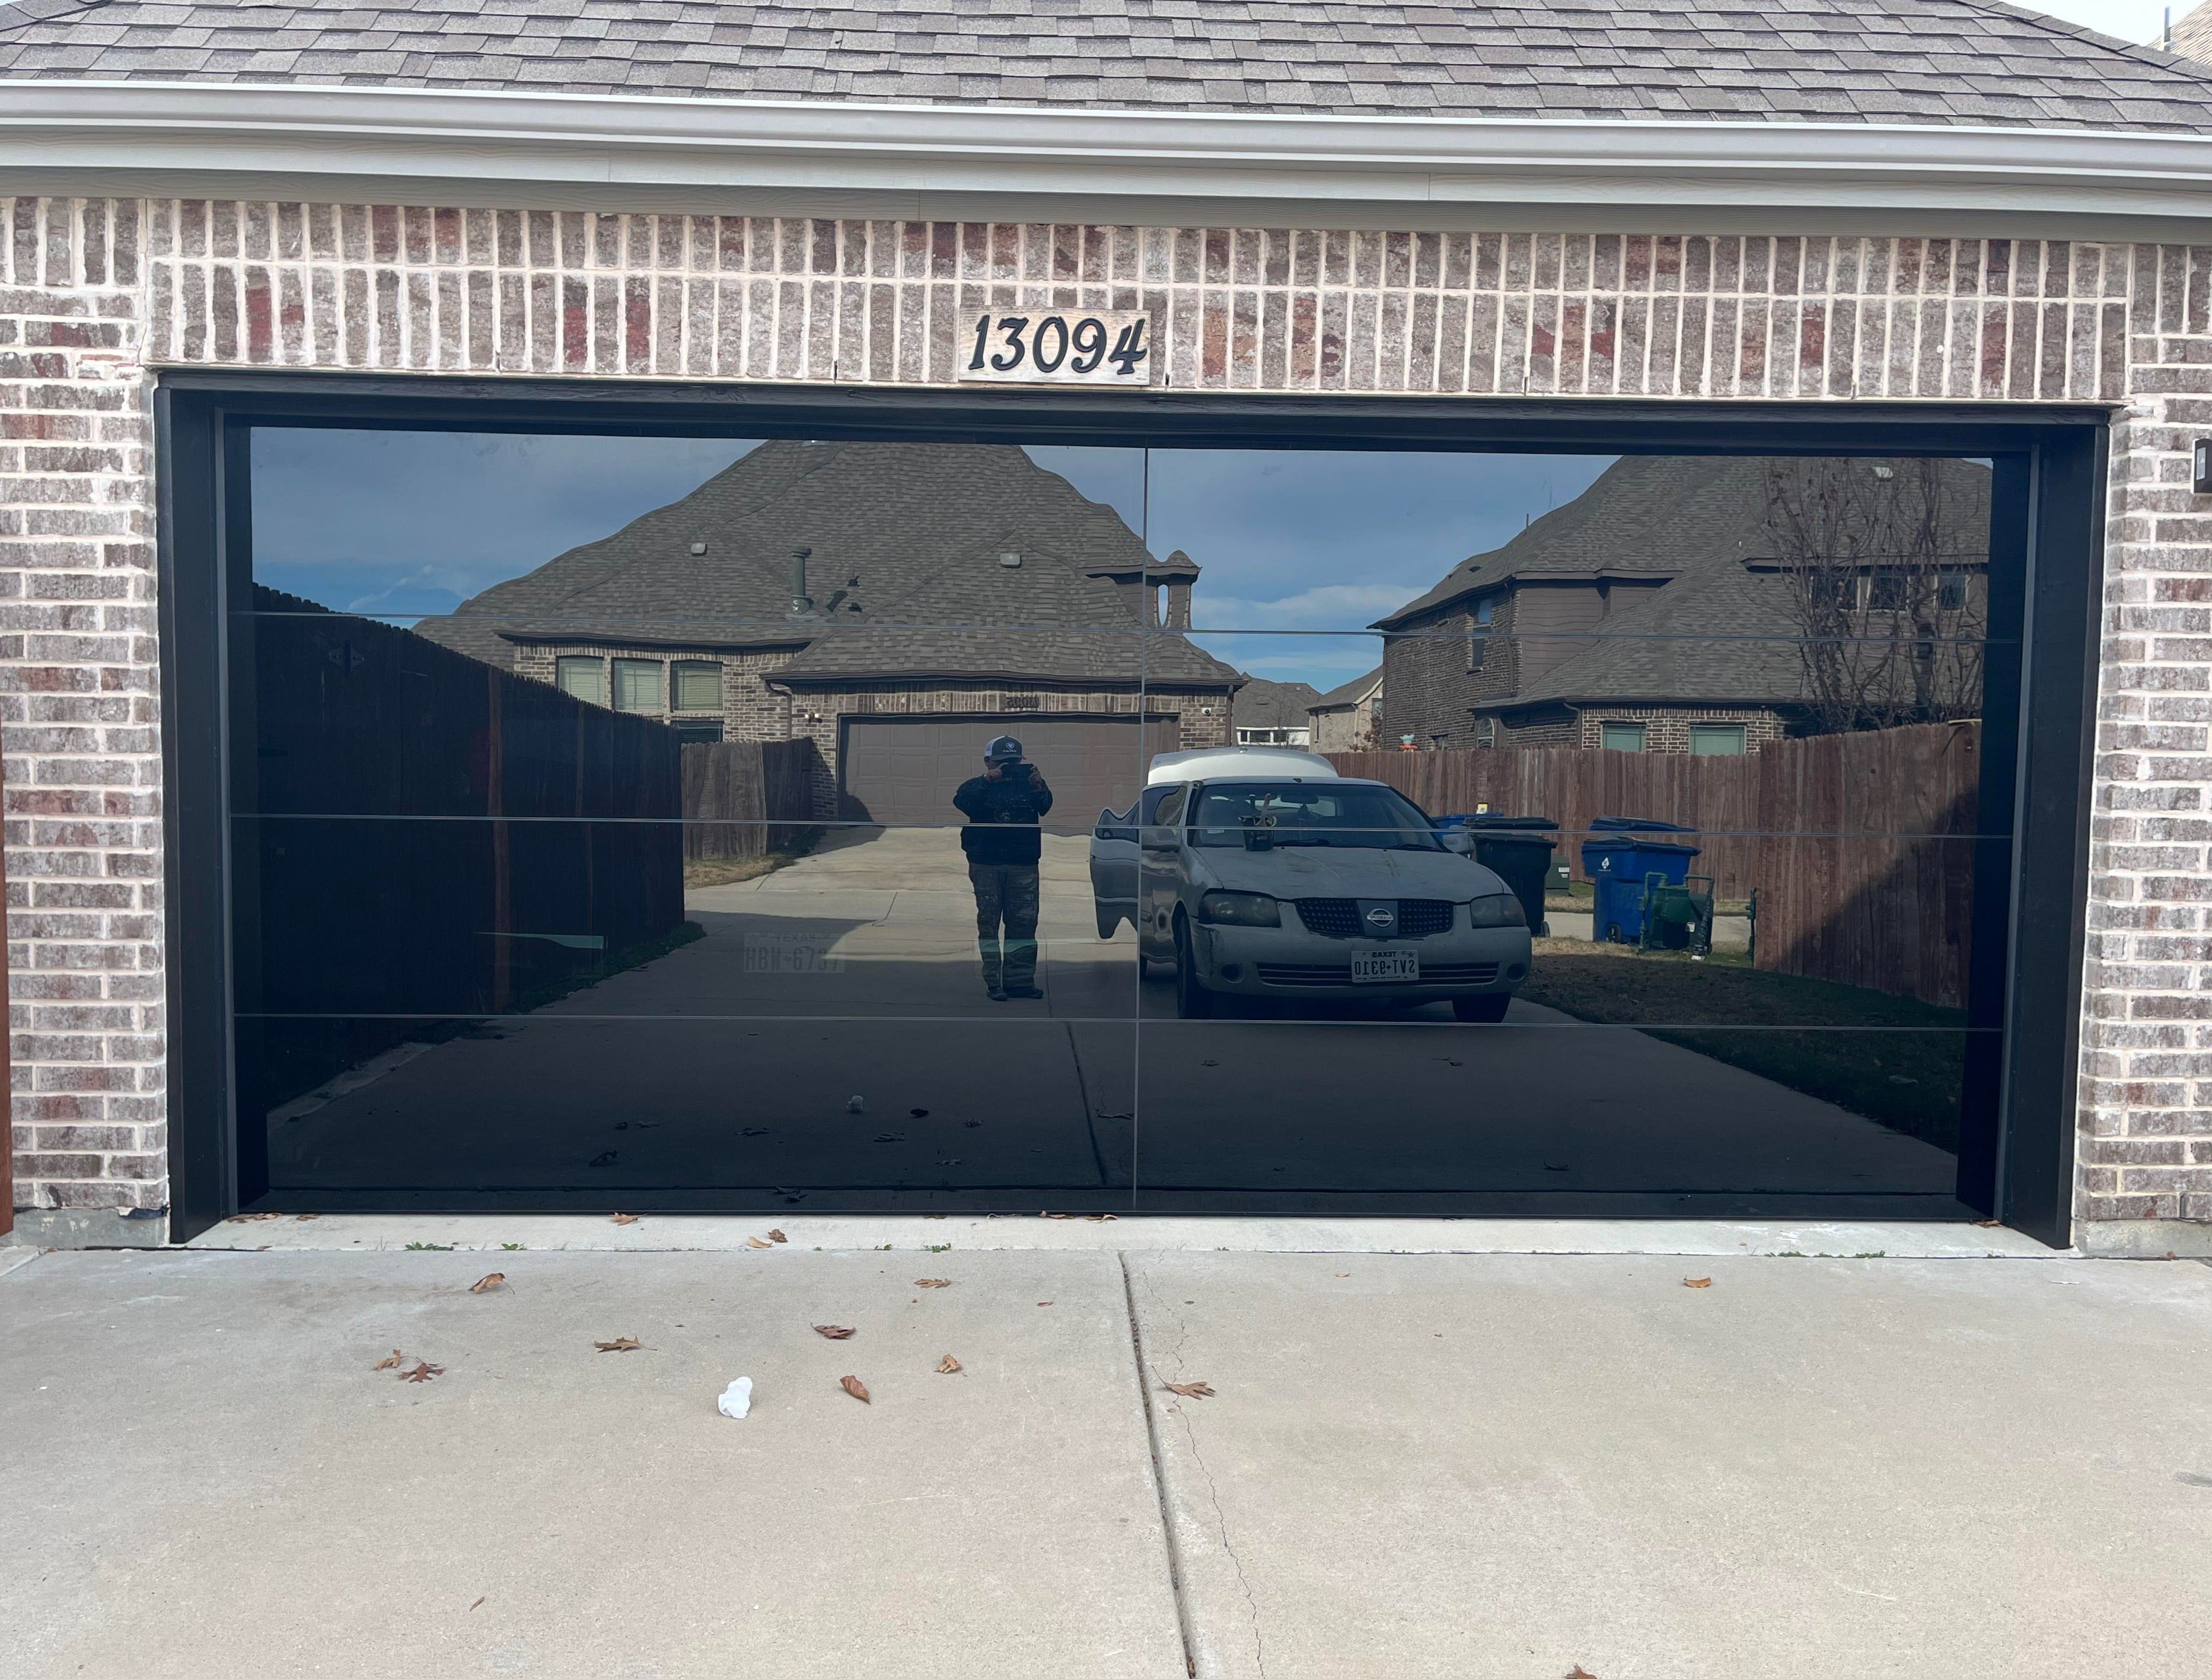
[[[1958,1150],[1964,1009],[1938,1009],[1832,980],[1763,973],[1736,960],[1692,962],[1626,945],[1537,940],[1520,989],[1579,1020],[1655,1026],[1652,1037],[1834,1102],[1876,1124]],[[1694,1031],[1714,1026],[1938,1026],[1942,1031]]]

